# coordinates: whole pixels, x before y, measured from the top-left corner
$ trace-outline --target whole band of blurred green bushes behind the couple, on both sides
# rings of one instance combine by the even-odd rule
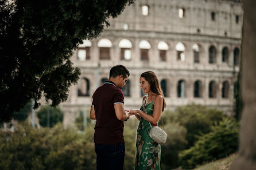
[[[87,112],[88,113],[88,112]],[[162,114],[168,140],[162,145],[161,169],[195,168],[234,153],[238,149],[238,123],[215,109],[200,105],[180,106]],[[83,114],[76,128],[32,128],[27,122],[14,132],[0,131],[0,169],[96,169],[94,124]],[[125,122],[125,170],[134,169],[136,118]]]

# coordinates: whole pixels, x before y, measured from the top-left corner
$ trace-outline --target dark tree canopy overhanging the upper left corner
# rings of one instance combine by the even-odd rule
[[[0,122],[10,121],[32,98],[52,106],[67,100],[80,70],[70,57],[134,0],[0,1]]]

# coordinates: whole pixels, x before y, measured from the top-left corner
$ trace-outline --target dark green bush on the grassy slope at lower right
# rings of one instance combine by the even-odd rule
[[[234,119],[224,118],[212,131],[201,137],[195,146],[180,154],[181,167],[195,168],[197,164],[220,159],[238,150],[238,123]]]

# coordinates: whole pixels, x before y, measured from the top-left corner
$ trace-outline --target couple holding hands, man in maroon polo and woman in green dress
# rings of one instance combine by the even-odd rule
[[[160,170],[161,145],[149,136],[151,126],[158,125],[165,99],[160,82],[153,72],[144,72],[139,84],[146,96],[142,99],[139,110],[125,110],[123,92],[129,70],[123,65],[111,68],[110,78],[96,89],[92,96],[91,119],[96,120],[94,143],[96,152],[96,169],[123,169],[125,158],[125,140],[123,121],[135,116],[139,120],[136,133],[135,170]],[[128,112],[128,113],[126,113]]]

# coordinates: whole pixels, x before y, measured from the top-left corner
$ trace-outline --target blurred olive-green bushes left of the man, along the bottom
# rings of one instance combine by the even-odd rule
[[[94,144],[85,133],[54,128],[35,129],[25,124],[17,131],[0,131],[0,169],[95,169]]]

